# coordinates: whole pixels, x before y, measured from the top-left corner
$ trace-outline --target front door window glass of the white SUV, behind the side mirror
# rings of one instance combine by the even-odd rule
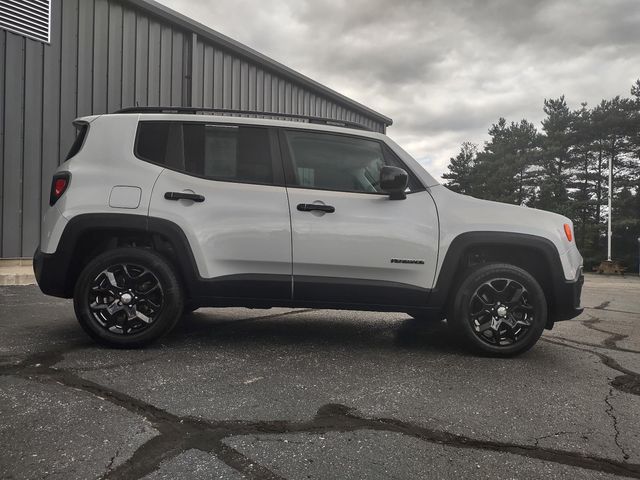
[[[286,137],[298,187],[383,193],[382,167],[402,167],[375,140],[305,131],[287,131]],[[412,191],[412,182],[409,186]]]

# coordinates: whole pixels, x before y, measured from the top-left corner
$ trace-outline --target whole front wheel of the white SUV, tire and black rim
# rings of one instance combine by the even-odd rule
[[[486,264],[465,275],[447,318],[452,331],[476,352],[511,357],[529,350],[547,324],[540,284],[509,264]]]

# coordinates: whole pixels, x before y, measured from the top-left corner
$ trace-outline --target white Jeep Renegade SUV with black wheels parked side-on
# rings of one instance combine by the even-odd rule
[[[347,122],[198,112],[74,122],[34,269],[96,341],[141,346],[198,307],[314,307],[446,318],[506,356],[581,312],[569,219],[453,193]]]

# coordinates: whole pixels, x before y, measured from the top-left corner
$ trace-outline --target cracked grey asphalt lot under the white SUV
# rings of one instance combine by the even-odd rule
[[[201,309],[144,350],[0,287],[0,478],[640,478],[640,280],[514,359],[403,314]]]

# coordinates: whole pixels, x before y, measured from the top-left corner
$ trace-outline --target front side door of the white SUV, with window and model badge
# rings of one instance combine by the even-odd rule
[[[296,300],[425,306],[433,285],[438,218],[410,176],[404,200],[379,187],[384,165],[407,169],[378,140],[281,132],[293,233]]]

